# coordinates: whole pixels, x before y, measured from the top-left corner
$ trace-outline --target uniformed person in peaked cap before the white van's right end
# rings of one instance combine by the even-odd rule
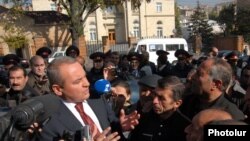
[[[193,69],[192,64],[187,60],[190,54],[184,49],[178,49],[175,52],[175,57],[178,59],[176,65],[173,67],[173,75],[185,79],[188,73]]]

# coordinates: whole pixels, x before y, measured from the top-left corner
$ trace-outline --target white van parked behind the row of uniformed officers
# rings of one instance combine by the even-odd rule
[[[177,60],[174,56],[177,49],[188,51],[187,41],[183,38],[150,38],[138,41],[135,52],[141,53],[142,50],[146,50],[149,53],[149,61],[157,65],[157,50],[169,52],[168,61],[172,63],[174,60]]]

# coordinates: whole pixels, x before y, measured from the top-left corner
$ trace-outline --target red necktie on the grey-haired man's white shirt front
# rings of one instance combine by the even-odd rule
[[[83,105],[81,102],[77,103],[75,106],[76,110],[79,112],[83,122],[86,125],[89,125],[91,134],[93,135],[94,131],[96,130],[96,135],[100,134],[97,126],[95,125],[94,121],[84,112]]]

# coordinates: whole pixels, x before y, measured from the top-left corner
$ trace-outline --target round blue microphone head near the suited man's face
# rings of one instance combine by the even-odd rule
[[[99,79],[95,82],[94,88],[99,94],[104,94],[110,92],[111,84],[108,80]]]

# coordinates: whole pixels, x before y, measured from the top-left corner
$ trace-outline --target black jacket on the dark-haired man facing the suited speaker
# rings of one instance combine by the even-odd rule
[[[139,125],[130,133],[130,141],[186,141],[184,129],[190,119],[179,110],[167,119],[159,118],[153,110],[143,115]]]

